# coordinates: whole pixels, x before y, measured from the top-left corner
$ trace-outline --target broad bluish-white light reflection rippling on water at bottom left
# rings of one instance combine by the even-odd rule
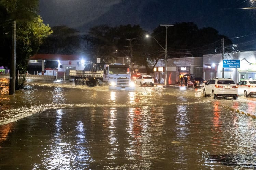
[[[86,169],[91,159],[86,129],[81,121],[77,121],[75,129],[63,127],[61,109],[57,110],[54,136],[42,152],[40,164],[34,164],[34,169]],[[65,123],[63,123],[65,124]],[[66,128],[66,129],[64,129]],[[65,131],[65,130],[68,130]],[[72,139],[71,139],[72,138]],[[76,138],[76,143],[70,143]]]

